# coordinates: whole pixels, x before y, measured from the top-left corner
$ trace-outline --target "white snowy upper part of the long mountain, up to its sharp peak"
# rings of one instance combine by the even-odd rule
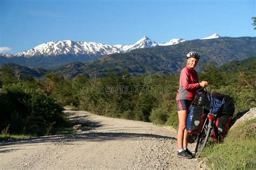
[[[0,54],[6,58],[13,56],[24,56],[30,58],[32,56],[57,56],[57,55],[105,55],[113,53],[129,52],[137,48],[150,48],[158,46],[150,38],[144,36],[133,45],[105,45],[96,42],[83,42],[83,41],[51,41],[38,45],[35,48],[29,49],[25,52],[17,54]]]

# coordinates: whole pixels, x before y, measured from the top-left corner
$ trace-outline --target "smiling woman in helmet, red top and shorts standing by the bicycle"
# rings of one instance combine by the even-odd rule
[[[187,54],[187,65],[181,70],[179,79],[179,90],[176,96],[176,107],[179,117],[179,128],[177,132],[178,143],[178,157],[179,158],[192,158],[192,153],[187,149],[187,130],[186,130],[186,118],[188,113],[188,107],[194,100],[194,96],[197,90],[201,87],[205,87],[207,81],[198,81],[198,75],[194,67],[200,56],[197,52],[189,52]]]

